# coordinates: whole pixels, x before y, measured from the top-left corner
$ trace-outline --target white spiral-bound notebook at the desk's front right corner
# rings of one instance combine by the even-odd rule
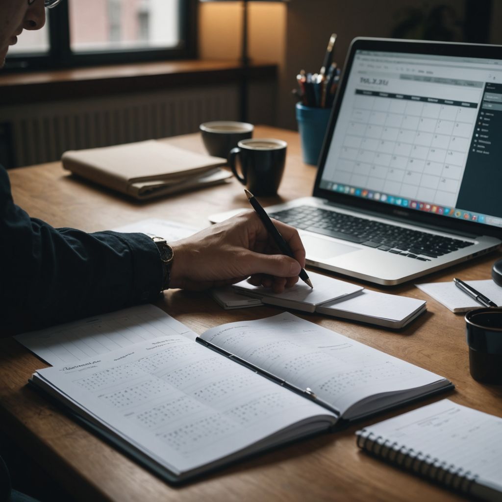
[[[502,500],[502,418],[449,399],[356,432],[387,462],[483,500]]]

